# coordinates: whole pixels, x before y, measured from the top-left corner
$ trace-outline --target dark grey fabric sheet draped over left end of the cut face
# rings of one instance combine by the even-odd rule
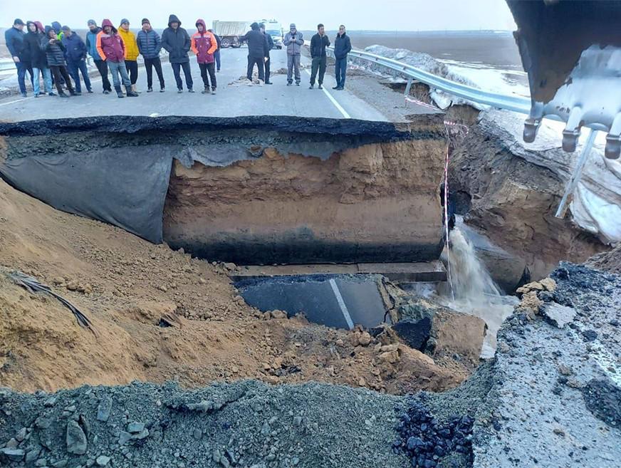
[[[164,203],[172,169],[169,152],[115,148],[6,160],[0,174],[14,187],[63,212],[98,219],[162,242]]]

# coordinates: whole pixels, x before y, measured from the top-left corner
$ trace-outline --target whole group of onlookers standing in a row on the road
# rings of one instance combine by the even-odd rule
[[[142,19],[142,28],[137,35],[130,31],[130,21],[125,18],[121,19],[118,28],[115,28],[109,19],[104,19],[101,26],[90,19],[87,26],[86,41],[83,41],[69,26],[61,26],[58,21],[45,27],[40,21],[27,21],[26,24],[21,19],[14,21],[13,26],[5,31],[4,37],[16,64],[21,95],[27,96],[26,72],[30,75],[35,97],[43,94],[56,95],[53,92],[53,85],[56,85],[58,95],[63,98],[68,95],[80,95],[81,81],[84,82],[87,92],[93,93],[86,66],[86,58],[91,56],[102,78],[104,94],[112,93],[114,88],[119,98],[124,98],[125,95],[136,97],[139,93],[136,87],[139,55],[142,55],[145,62],[147,93],[153,90],[153,68],[160,82],[160,93],[163,93],[165,80],[160,61],[162,48],[168,52],[178,93],[183,93],[182,71],[187,91],[194,93],[189,51],[194,52],[197,57],[204,85],[202,93],[216,93],[216,71],[220,71],[221,38],[212,29],[207,28],[204,20],[196,21],[197,31],[192,36],[181,27],[181,21],[174,14],[169,16],[168,27],[162,32],[161,37],[151,27],[147,18]],[[327,61],[326,47],[330,46],[323,24],[318,25],[317,31],[310,41],[311,89],[315,86],[315,80],[318,88],[323,88]],[[273,48],[273,39],[266,33],[265,26],[259,23],[251,24],[251,30],[241,37],[241,43],[247,43],[249,49],[247,78],[252,80],[256,65],[259,80],[271,85],[270,51]],[[289,32],[284,36],[283,44],[287,51],[287,85],[292,85],[294,78],[296,85],[300,85],[300,57],[304,38],[295,24],[291,24]],[[345,26],[341,25],[334,47],[337,82],[335,90],[342,90],[345,86],[347,55],[350,51],[350,38],[345,32]],[[112,75],[113,83],[110,83],[109,74]],[[43,91],[40,85],[41,77],[43,77]],[[125,88],[125,93],[122,87]],[[68,94],[65,93],[65,89],[68,90]]]

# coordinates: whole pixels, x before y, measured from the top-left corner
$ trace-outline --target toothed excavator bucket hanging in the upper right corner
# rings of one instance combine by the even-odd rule
[[[621,1],[506,0],[531,88],[523,139],[533,142],[544,117],[566,123],[563,150],[580,130],[607,132],[605,156],[621,154]]]

